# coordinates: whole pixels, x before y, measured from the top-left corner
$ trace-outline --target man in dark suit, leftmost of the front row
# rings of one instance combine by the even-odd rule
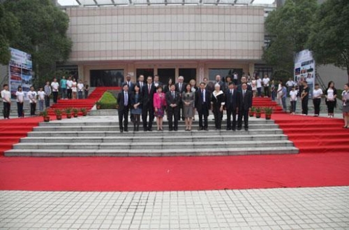
[[[130,101],[130,92],[128,92],[128,85],[124,83],[122,91],[117,95],[117,103],[119,108],[119,128],[120,132],[128,131],[128,111],[130,110],[131,101]],[[122,126],[122,120],[124,119],[124,127]]]

